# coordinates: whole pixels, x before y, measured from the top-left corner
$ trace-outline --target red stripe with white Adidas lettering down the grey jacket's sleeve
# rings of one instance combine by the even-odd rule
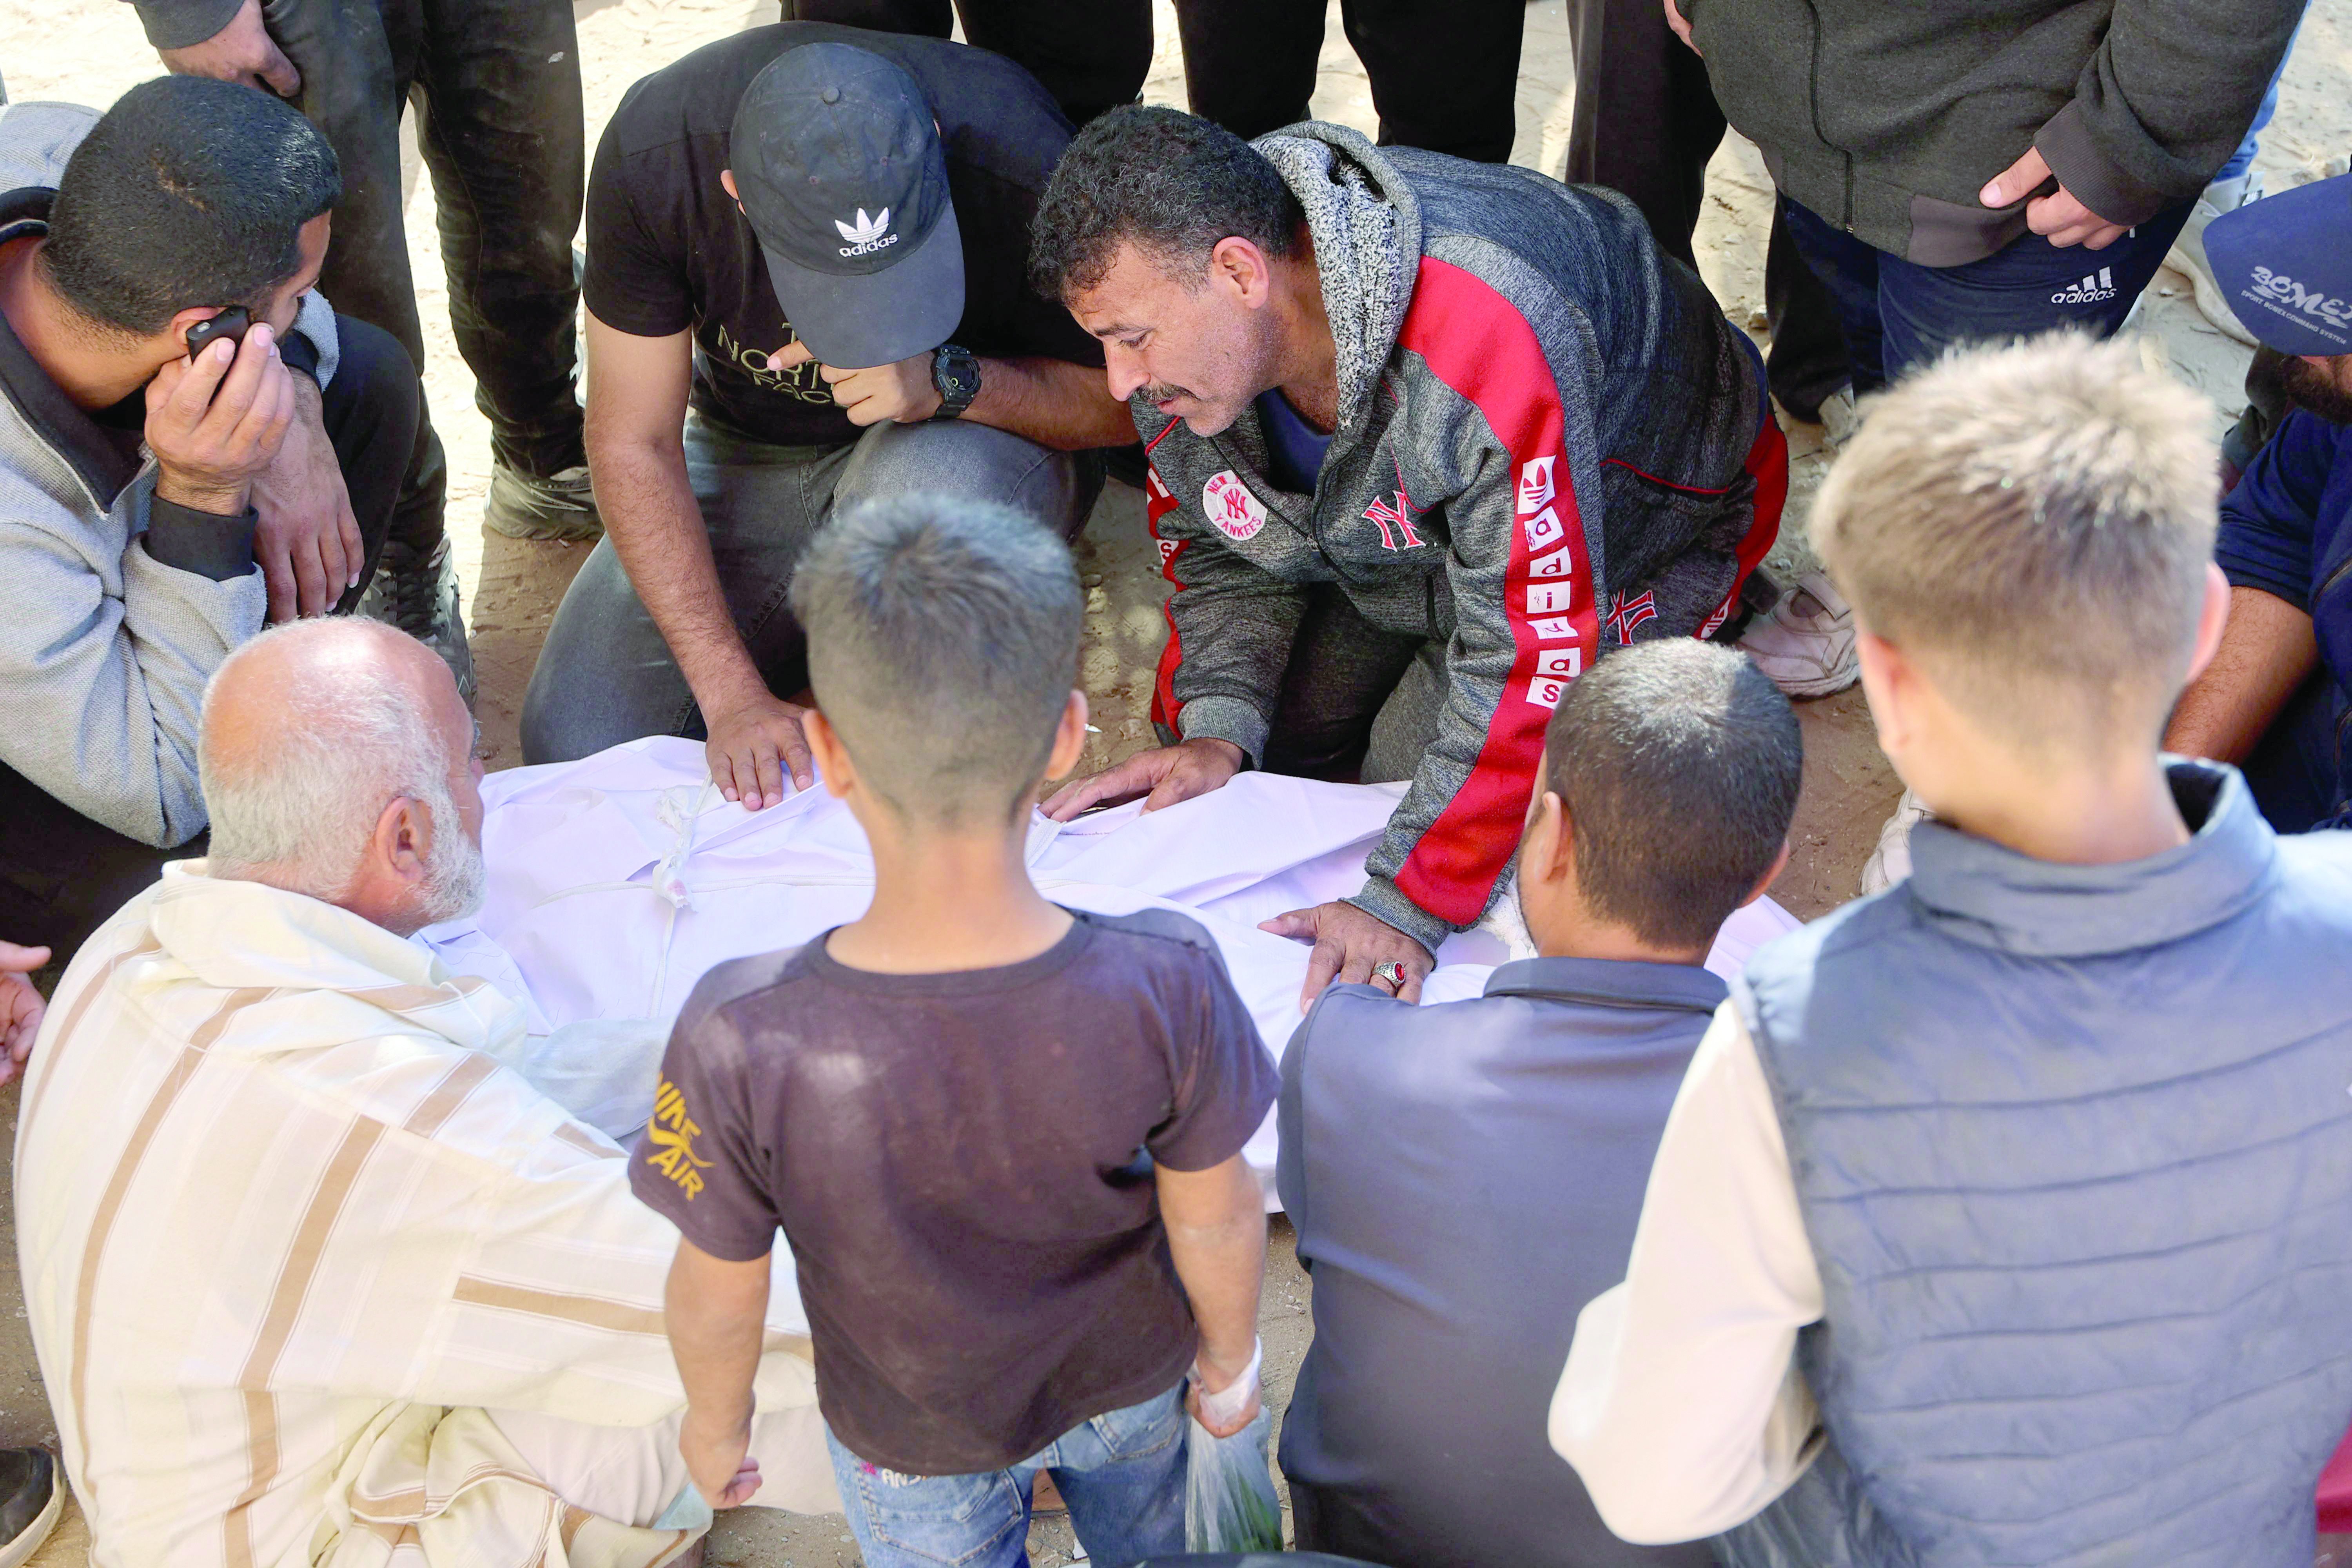
[[[1599,611],[1566,473],[1559,383],[1536,329],[1472,273],[1423,256],[1397,346],[1475,402],[1510,451],[1515,505],[1503,576],[1503,616],[1515,646],[1510,679],[1470,778],[1397,870],[1397,891],[1468,926],[1484,914],[1494,879],[1519,846],[1543,726],[1566,682],[1599,646]]]

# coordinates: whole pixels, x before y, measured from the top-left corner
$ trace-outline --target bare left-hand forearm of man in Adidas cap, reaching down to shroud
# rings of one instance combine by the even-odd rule
[[[694,698],[708,712],[743,691],[767,691],[727,609],[684,447],[597,440],[590,428],[588,465],[612,548]]]

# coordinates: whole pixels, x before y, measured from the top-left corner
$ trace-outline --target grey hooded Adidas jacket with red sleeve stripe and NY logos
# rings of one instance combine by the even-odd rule
[[[1762,362],[1623,197],[1312,125],[1258,143],[1308,212],[1338,350],[1312,496],[1254,409],[1145,400],[1169,595],[1152,717],[1265,755],[1310,585],[1446,649],[1437,736],[1357,905],[1435,947],[1494,898],[1543,726],[1606,646],[1712,632],[1778,531]],[[1649,616],[1602,604],[1646,592]]]

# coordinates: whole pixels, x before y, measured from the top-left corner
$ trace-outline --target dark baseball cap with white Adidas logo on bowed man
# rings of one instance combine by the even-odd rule
[[[863,369],[955,334],[964,237],[915,78],[851,45],[788,49],[743,92],[727,160],[809,353]]]

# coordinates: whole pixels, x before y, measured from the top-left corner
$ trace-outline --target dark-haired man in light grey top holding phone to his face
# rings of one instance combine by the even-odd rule
[[[358,602],[419,386],[310,289],[341,176],[263,92],[7,106],[0,190],[0,926],[68,957],[202,853],[212,670]]]

